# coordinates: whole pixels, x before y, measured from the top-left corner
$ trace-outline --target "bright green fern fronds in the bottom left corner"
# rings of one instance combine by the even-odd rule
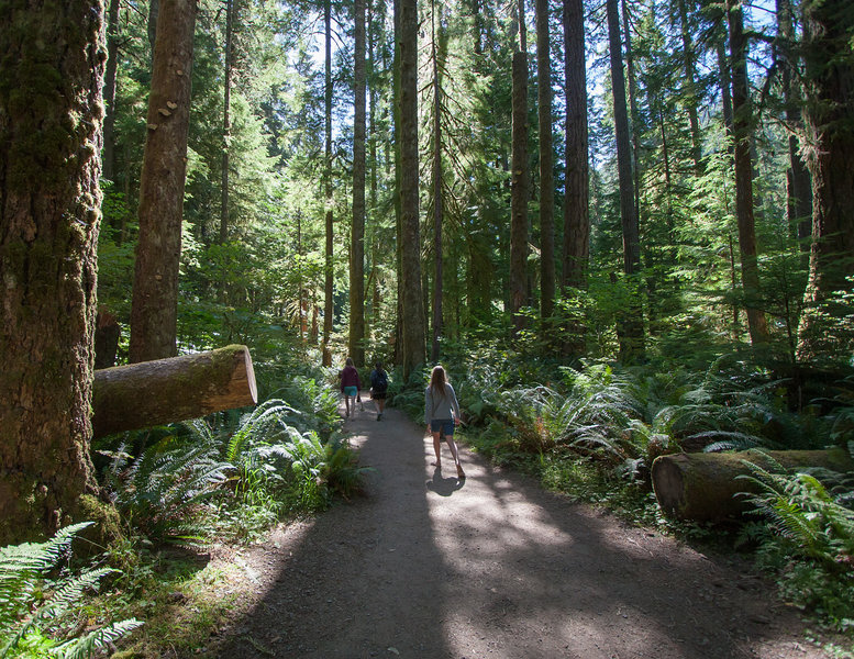
[[[67,637],[64,621],[87,592],[115,570],[62,570],[70,559],[71,541],[90,522],[67,526],[46,543],[0,548],[0,658],[63,657],[82,659],[110,647],[142,625],[136,619],[111,623],[85,635]]]

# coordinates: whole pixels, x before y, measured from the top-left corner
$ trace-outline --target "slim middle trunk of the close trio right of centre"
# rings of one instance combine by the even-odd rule
[[[548,0],[536,0],[536,88],[540,119],[540,316],[554,314],[555,227],[554,158],[552,155],[552,53]],[[550,330],[551,332],[551,330]]]

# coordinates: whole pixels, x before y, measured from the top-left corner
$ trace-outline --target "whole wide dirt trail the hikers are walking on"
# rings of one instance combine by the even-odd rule
[[[373,403],[346,422],[367,494],[239,556],[231,658],[816,658],[773,584],[543,491]],[[211,650],[213,648],[209,648]]]

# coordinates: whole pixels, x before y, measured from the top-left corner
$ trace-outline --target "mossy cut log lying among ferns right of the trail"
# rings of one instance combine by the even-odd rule
[[[843,472],[854,469],[854,460],[841,448],[659,456],[652,468],[658,505],[679,520],[699,522],[739,517],[748,504],[744,496],[735,494],[756,491],[756,483],[735,478],[751,473],[745,460],[768,469],[773,468],[772,460],[787,469],[823,467]]]

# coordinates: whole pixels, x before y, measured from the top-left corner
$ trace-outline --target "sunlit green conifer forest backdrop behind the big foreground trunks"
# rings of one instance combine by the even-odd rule
[[[568,360],[701,365],[753,347],[751,358],[761,353],[786,375],[807,364],[816,349],[799,327],[811,303],[806,165],[814,145],[802,112],[802,11],[787,2],[733,9],[743,22],[733,47],[725,9],[421,5],[412,235],[401,233],[396,179],[392,8],[367,7],[359,68],[352,3],[201,2],[181,349],[266,334],[348,351],[359,364],[365,353],[402,362],[401,254],[412,239],[429,327],[422,353],[434,360],[443,346],[485,340]],[[114,3],[111,13],[99,304],[125,327],[155,16],[144,2]],[[542,32],[514,81],[511,59],[534,19]],[[578,47],[584,56],[573,60]],[[625,93],[614,93],[614,63],[625,69]],[[514,85],[528,86],[520,114]],[[358,135],[354,89],[366,93]],[[511,223],[517,191],[522,217]],[[840,315],[820,356],[845,364]]]

